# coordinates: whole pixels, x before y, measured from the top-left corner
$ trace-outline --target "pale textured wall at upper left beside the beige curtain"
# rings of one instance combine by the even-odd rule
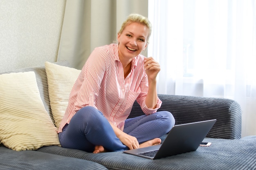
[[[66,0],[0,0],[0,72],[55,62]]]

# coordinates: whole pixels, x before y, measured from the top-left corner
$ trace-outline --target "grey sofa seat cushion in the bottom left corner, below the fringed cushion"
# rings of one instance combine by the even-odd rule
[[[34,150],[14,151],[0,146],[1,170],[107,170],[104,166]]]

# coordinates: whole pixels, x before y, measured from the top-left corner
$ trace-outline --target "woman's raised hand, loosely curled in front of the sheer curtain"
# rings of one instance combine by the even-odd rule
[[[157,74],[160,71],[159,63],[156,62],[153,57],[148,57],[144,60],[144,68],[146,70],[146,74],[148,75],[148,81],[155,81]]]

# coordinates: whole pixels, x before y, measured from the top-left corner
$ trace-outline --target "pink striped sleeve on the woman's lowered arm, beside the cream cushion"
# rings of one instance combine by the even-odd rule
[[[92,51],[85,66],[79,75],[79,88],[74,103],[75,111],[85,106],[95,106],[95,99],[98,97],[101,81],[106,71],[106,62],[103,55],[109,55],[108,50],[96,48]]]

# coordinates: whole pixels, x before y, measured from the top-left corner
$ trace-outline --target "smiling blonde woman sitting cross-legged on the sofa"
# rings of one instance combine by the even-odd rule
[[[159,64],[141,55],[151,24],[131,14],[117,34],[118,44],[92,51],[70,93],[59,139],[64,148],[99,153],[143,148],[161,143],[175,124],[167,111],[157,112]],[[145,113],[127,119],[137,100]]]

